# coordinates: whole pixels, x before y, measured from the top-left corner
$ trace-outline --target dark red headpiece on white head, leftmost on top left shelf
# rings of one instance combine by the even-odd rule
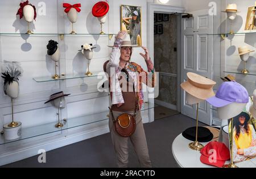
[[[31,5],[31,3],[27,1],[20,2],[19,3],[19,10],[16,15],[19,15],[19,19],[22,19],[24,16],[24,19],[28,22],[28,31],[27,34],[32,34],[33,32],[30,30],[30,23],[34,20],[36,20],[36,8],[34,5]]]

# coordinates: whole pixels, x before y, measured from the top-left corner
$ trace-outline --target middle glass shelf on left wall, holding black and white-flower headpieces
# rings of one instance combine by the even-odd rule
[[[76,75],[60,75],[59,79],[53,79],[51,76],[43,76],[43,77],[35,77],[33,78],[36,82],[42,83],[42,82],[56,82],[59,80],[66,80],[66,79],[77,79],[77,78],[89,78],[89,77],[95,77],[95,76],[104,76],[104,72],[92,72],[92,76],[87,76],[85,74],[76,74]]]

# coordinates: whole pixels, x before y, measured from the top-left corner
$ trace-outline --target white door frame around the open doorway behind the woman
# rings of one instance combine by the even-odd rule
[[[147,46],[150,52],[150,57],[154,63],[154,13],[183,13],[185,8],[170,6],[170,5],[159,5],[154,3],[148,3],[147,5],[147,22],[148,22],[148,31],[147,31]],[[181,112],[181,90],[180,90],[180,81],[181,81],[181,15],[177,16],[177,111]],[[154,104],[154,99],[148,99],[150,104]],[[150,113],[150,119],[154,118],[154,112]]]

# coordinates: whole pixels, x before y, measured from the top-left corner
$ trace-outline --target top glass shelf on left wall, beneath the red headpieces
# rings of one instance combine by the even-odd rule
[[[77,33],[77,34],[70,34],[70,33],[32,33],[32,34],[27,34],[27,33],[0,33],[0,36],[68,36],[68,37],[80,37],[80,36],[113,36],[115,33],[105,33],[105,34],[100,34],[100,33]]]

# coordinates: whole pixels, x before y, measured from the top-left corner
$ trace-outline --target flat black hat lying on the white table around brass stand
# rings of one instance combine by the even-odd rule
[[[182,135],[184,138],[188,140],[196,141],[196,127],[189,127],[188,129],[183,131]],[[213,139],[213,134],[210,132],[209,129],[207,129],[206,127],[198,127],[198,131],[197,131],[198,142],[209,142],[212,139]]]

